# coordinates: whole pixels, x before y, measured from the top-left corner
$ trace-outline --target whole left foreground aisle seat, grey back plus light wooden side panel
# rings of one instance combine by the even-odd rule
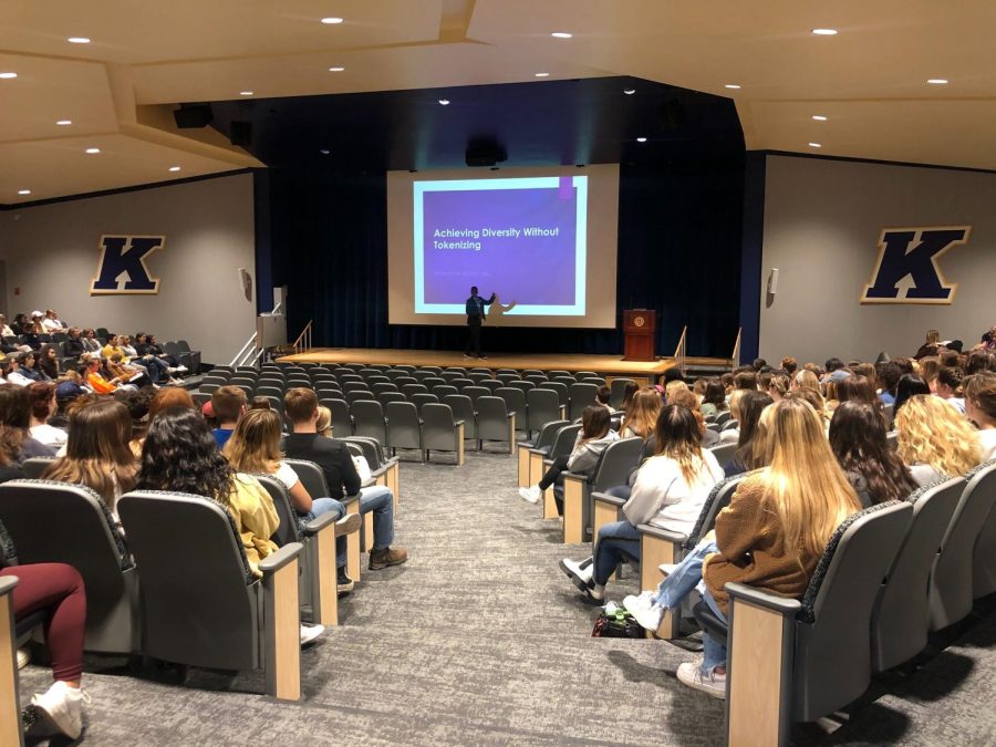
[[[191,666],[261,668],[269,695],[300,699],[301,546],[264,558],[259,579],[217,501],[135,491],[118,507],[142,573],[143,653]],[[164,537],[183,537],[184,551]]]

